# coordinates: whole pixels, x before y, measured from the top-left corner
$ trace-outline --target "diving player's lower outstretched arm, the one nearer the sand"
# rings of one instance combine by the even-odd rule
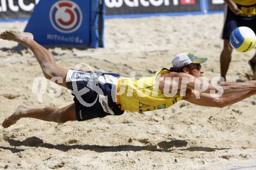
[[[187,94],[184,97],[184,100],[200,106],[222,108],[222,107],[240,102],[241,100],[246,99],[247,97],[250,97],[252,95],[256,95],[256,91],[242,91],[242,92],[222,95],[221,97],[214,97],[208,93],[200,93],[200,99],[197,99],[194,91],[191,91],[191,93]]]

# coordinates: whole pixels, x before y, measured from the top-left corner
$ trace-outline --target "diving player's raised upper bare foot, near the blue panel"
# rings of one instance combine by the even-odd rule
[[[33,40],[34,37],[33,37],[33,34],[29,32],[8,30],[8,31],[3,31],[0,34],[0,38],[9,40],[9,41],[15,41],[24,46],[27,46],[29,42]]]

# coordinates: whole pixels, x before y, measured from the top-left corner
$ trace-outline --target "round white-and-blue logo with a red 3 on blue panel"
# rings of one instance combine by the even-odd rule
[[[76,31],[83,20],[80,7],[72,1],[58,1],[49,13],[52,26],[63,33]]]

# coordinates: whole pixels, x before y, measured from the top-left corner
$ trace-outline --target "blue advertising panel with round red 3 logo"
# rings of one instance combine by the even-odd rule
[[[40,1],[31,15],[24,31],[34,34],[34,39],[42,45],[87,45],[99,47],[103,41],[101,25],[98,25],[101,0],[51,0]],[[99,38],[100,37],[100,38]],[[103,42],[100,43],[101,45]]]

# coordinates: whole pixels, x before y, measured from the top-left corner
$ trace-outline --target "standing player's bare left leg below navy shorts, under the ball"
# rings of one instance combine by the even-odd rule
[[[225,78],[229,64],[231,62],[232,46],[229,44],[228,39],[224,39],[223,50],[221,52],[221,77]]]

